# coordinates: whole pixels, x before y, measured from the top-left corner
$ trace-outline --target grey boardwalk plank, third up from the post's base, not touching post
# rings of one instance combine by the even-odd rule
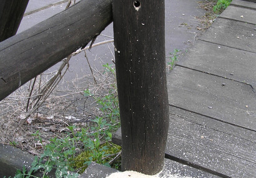
[[[256,85],[256,55],[252,52],[199,42],[177,65]]]

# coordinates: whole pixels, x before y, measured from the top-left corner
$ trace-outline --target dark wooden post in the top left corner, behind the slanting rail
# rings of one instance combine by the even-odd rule
[[[15,35],[29,0],[0,0],[0,42]]]

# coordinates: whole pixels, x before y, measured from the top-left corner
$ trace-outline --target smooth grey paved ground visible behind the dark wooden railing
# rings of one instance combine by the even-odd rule
[[[18,33],[63,11],[66,6],[67,0],[30,0],[25,16],[19,26]],[[204,13],[205,11],[199,8],[197,0],[165,1],[165,53],[167,56],[174,49],[185,51],[192,46],[195,37],[200,36],[202,33],[202,31],[197,30],[197,27],[200,27],[200,23],[195,17],[203,16]],[[187,26],[180,26],[182,23],[187,24]],[[101,34],[108,35],[110,38],[99,35],[95,43],[112,39],[111,37],[114,36],[112,24]],[[101,70],[104,63],[113,64],[111,61],[114,59],[112,54],[114,54],[113,44],[101,45],[92,48],[91,52],[87,51],[87,57],[91,66],[99,70]],[[47,70],[47,72],[57,70],[59,65],[60,63],[56,64]],[[84,53],[81,53],[72,57],[69,71],[66,73],[64,80],[69,81],[76,77],[80,78],[89,74],[91,74],[91,71],[88,63],[86,62]]]

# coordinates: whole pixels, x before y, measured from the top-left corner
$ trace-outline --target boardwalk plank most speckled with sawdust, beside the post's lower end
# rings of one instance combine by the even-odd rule
[[[255,177],[255,131],[175,107],[169,111],[166,154],[222,177]]]

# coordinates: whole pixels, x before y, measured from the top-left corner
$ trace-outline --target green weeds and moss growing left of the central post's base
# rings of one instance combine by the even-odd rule
[[[104,68],[106,73],[116,75],[112,66],[106,64]],[[28,172],[25,168],[18,170],[15,177],[36,177],[32,176],[32,173],[37,171],[42,172],[42,177],[48,177],[52,171],[56,177],[78,177],[78,173],[84,172],[92,161],[119,167],[116,159],[121,156],[121,147],[111,143],[112,132],[120,126],[116,84],[112,84],[107,95],[96,96],[87,89],[84,96],[96,101],[101,115],[91,119],[89,127],[67,127],[69,131],[65,133],[65,138],[52,138],[50,143],[44,146],[43,154],[35,157],[31,169]],[[39,131],[33,136],[44,145]]]

